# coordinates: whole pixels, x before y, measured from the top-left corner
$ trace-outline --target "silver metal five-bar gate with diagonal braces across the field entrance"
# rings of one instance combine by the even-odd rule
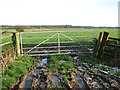
[[[91,33],[89,36],[67,36],[66,33],[78,33],[78,32],[81,32],[81,33],[84,33],[84,32],[92,32],[92,36],[91,36]],[[24,37],[24,34],[41,34],[41,33],[54,33],[52,36],[50,37],[38,37],[38,38],[22,38],[22,36]],[[74,34],[73,34],[74,35]],[[57,36],[57,37],[56,37]],[[38,54],[40,54],[39,56],[41,55],[44,55],[45,52],[51,52],[51,49],[52,48],[55,48],[56,50],[54,50],[54,53],[46,53],[45,55],[56,55],[56,54],[63,54],[63,51],[72,51],[72,53],[68,53],[68,54],[75,54],[75,53],[78,53],[76,51],[79,51],[78,48],[82,48],[82,47],[86,47],[86,48],[91,48],[93,47],[93,45],[82,45],[81,42],[93,42],[93,40],[85,40],[85,41],[76,41],[74,40],[74,38],[78,38],[80,39],[81,37],[82,38],[87,38],[87,37],[91,37],[91,39],[93,39],[95,37],[95,32],[94,31],[50,31],[50,32],[21,32],[20,33],[20,37],[21,37],[21,54],[22,56],[24,55],[27,55],[27,56],[36,56],[36,54],[32,54],[32,55],[29,55],[32,53],[35,53],[37,52]],[[44,41],[40,42],[40,43],[25,43],[23,42],[24,39],[28,39],[28,40],[31,40],[33,39],[35,41],[35,39],[45,39]],[[57,38],[57,42],[53,41],[53,42],[48,42],[48,40],[52,39],[52,38]],[[67,41],[61,41],[61,38],[66,38],[68,39]],[[37,41],[38,42],[38,41]],[[75,45],[72,45],[75,44]],[[52,44],[57,44],[57,46],[54,46]],[[68,44],[68,45],[65,45],[63,46],[62,44]],[[23,47],[24,45],[34,45],[33,47]],[[41,46],[41,45],[47,45],[47,46]],[[52,46],[51,46],[52,45]],[[48,51],[39,51],[39,49],[44,49],[44,48],[49,48]],[[62,48],[69,48],[69,50],[62,50]],[[76,48],[76,50],[75,50]],[[26,51],[27,50],[27,51]],[[35,51],[34,50],[38,50],[38,51]],[[89,50],[88,50],[89,51]],[[42,54],[39,53],[39,52],[43,52]],[[66,54],[66,52],[64,52],[64,54]],[[79,53],[86,53],[86,51],[83,51],[82,52],[82,49],[81,49],[81,52],[79,51]],[[90,53],[90,52],[88,52]]]

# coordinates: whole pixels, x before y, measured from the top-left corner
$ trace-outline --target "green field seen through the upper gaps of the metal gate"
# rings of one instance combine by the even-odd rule
[[[40,43],[52,37],[53,35],[55,36],[53,38],[50,38],[46,42],[58,42],[58,34],[56,33],[23,33],[21,35],[22,38],[24,38],[22,39],[22,42]],[[93,40],[93,34],[94,34],[93,32],[63,32],[59,34],[59,37],[61,42],[72,41],[71,39],[73,39],[74,41],[88,41],[88,40]],[[79,37],[79,36],[88,36],[88,37]]]

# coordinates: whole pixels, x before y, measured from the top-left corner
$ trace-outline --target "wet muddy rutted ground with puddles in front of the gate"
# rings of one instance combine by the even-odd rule
[[[92,66],[73,56],[74,69],[49,72],[49,58],[43,57],[37,62],[36,69],[28,76],[23,85],[23,89],[28,88],[120,88],[120,77],[113,75],[109,71],[103,71],[100,67]],[[91,70],[92,68],[92,70]],[[67,79],[65,79],[66,76]]]

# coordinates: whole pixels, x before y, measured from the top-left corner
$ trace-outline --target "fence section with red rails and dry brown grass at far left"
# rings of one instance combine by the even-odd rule
[[[0,47],[3,49],[0,50],[0,62],[2,64],[2,73],[4,74],[4,69],[8,69],[8,65],[15,59],[16,52],[13,41],[0,44]]]

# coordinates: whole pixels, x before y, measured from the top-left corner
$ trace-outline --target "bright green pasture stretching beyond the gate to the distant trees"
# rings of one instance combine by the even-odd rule
[[[16,32],[16,30],[2,30],[2,32],[4,31],[9,31],[9,32]],[[95,37],[98,38],[99,37],[99,33],[100,32],[108,32],[110,37],[114,37],[114,38],[118,38],[118,29],[100,29],[100,28],[95,28],[95,29],[85,29],[85,28],[50,28],[50,29],[45,29],[45,28],[41,28],[41,29],[24,29],[25,32],[49,32],[49,31],[94,31],[95,32]],[[51,37],[52,35],[54,35],[55,33],[36,33],[36,34],[22,34],[22,38],[41,38],[41,37]],[[87,40],[93,40],[91,37],[84,37],[84,38],[73,38],[72,36],[92,36],[93,32],[80,32],[80,33],[63,33],[66,36],[71,37],[73,40],[75,41],[87,41]],[[7,36],[8,34],[2,34],[2,36]],[[58,35],[54,36],[54,38],[49,39],[47,42],[57,42],[58,41]],[[71,41],[70,39],[66,38],[63,35],[60,35],[60,41],[64,42],[64,41]],[[46,40],[47,38],[43,38],[43,39],[24,39],[22,40],[23,43],[40,43],[44,40]],[[11,37],[2,39],[2,42],[0,43],[6,43],[8,41],[12,41]],[[7,46],[2,47],[2,50],[4,50]]]

